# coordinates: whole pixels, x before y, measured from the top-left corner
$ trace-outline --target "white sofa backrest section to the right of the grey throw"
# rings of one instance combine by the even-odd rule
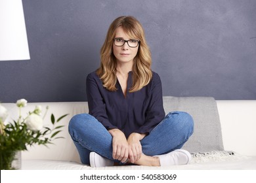
[[[256,101],[217,101],[224,150],[256,156]]]

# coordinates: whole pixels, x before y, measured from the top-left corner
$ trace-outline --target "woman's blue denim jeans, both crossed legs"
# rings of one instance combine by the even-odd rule
[[[179,149],[188,141],[194,130],[192,117],[186,112],[170,112],[140,141],[143,154],[156,156]],[[90,152],[112,159],[112,135],[90,114],[77,114],[68,131],[79,152],[81,163],[90,164]]]

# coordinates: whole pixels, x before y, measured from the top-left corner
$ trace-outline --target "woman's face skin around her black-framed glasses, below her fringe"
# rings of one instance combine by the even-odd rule
[[[123,27],[117,27],[116,29],[116,35],[115,39],[123,39],[123,40],[130,40],[134,39],[133,37],[129,37],[124,31]],[[130,61],[133,61],[135,56],[137,55],[139,45],[136,48],[131,48],[127,42],[123,44],[123,46],[116,46],[113,44],[113,53],[114,56],[116,57],[117,61],[121,63],[127,63]]]

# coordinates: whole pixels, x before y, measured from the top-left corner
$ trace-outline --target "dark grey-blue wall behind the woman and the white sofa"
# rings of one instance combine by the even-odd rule
[[[0,61],[0,101],[86,101],[111,22],[146,31],[163,95],[256,99],[256,1],[23,0],[29,61]]]

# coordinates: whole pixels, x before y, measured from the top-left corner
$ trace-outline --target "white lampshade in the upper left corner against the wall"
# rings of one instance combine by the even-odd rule
[[[30,59],[22,0],[0,0],[0,61]]]

